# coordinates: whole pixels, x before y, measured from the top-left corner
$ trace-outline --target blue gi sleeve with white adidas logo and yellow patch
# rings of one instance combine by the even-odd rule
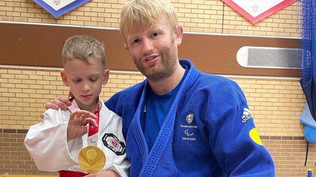
[[[212,93],[205,120],[210,147],[225,174],[230,177],[275,176],[272,157],[260,140],[237,83],[222,83]]]

